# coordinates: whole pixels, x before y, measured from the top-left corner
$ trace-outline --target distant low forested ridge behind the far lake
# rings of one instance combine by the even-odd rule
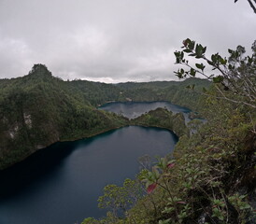
[[[208,88],[210,82],[206,79],[188,78],[184,81],[154,81],[126,82],[106,84],[85,80],[66,82],[69,88],[81,91],[84,97],[94,106],[104,105],[111,101],[170,101],[173,104],[184,105],[194,110],[200,108],[199,98],[203,88]],[[187,87],[193,86],[194,90]]]

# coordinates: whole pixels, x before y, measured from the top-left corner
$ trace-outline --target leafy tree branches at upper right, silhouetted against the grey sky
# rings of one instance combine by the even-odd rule
[[[195,77],[196,74],[201,74],[214,83],[220,93],[218,98],[256,108],[256,41],[252,44],[251,56],[245,57],[245,48],[237,46],[235,50],[228,49],[230,54],[228,59],[221,57],[219,53],[207,58],[206,47],[196,44],[189,38],[183,41],[181,48],[181,51],[175,52],[176,63],[189,67],[189,70],[178,69],[175,73],[179,78]],[[184,58],[185,54],[199,60],[200,63],[194,63],[192,66]],[[214,74],[206,73],[205,63],[215,70]],[[193,86],[190,88],[193,89]]]

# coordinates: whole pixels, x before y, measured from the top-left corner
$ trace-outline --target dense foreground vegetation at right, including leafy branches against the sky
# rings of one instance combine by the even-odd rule
[[[199,101],[206,124],[190,122],[192,134],[179,138],[174,155],[151,166],[144,160],[145,169],[134,180],[107,186],[98,200],[99,207],[108,209],[107,217],[88,217],[82,224],[255,223],[255,43],[251,57],[243,57],[245,50],[237,47],[229,49],[229,59],[214,54],[209,60],[206,48],[190,39],[183,42],[183,50],[176,51],[177,63],[190,69],[179,69],[178,77],[205,74],[204,63],[193,68],[184,53],[220,72],[207,77],[213,86]],[[156,111],[167,119],[164,110]],[[156,111],[137,119],[138,123],[161,125],[164,120],[154,118]]]

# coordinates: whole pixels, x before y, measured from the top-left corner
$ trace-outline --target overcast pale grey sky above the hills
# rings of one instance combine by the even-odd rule
[[[44,63],[64,79],[176,79],[186,37],[209,53],[249,49],[256,15],[246,0],[0,0],[0,78]]]

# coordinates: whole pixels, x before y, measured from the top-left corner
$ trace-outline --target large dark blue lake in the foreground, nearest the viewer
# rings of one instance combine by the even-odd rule
[[[74,224],[101,217],[97,198],[121,185],[145,154],[172,152],[177,137],[156,128],[125,127],[87,140],[58,143],[0,173],[0,224]]]

